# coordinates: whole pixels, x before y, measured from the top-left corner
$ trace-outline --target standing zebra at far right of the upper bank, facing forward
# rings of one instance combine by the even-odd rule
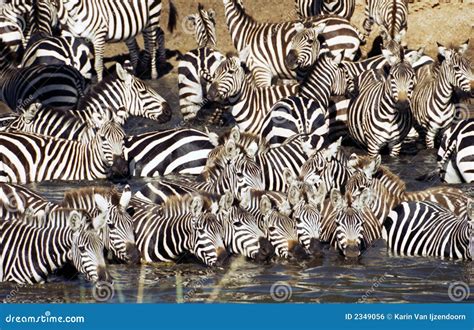
[[[464,57],[469,40],[456,51],[438,44],[444,58],[437,74],[421,79],[413,91],[412,112],[418,125],[426,130],[426,146],[434,148],[438,132],[445,130],[456,116],[452,98],[456,88],[469,93],[474,86],[470,61]]]

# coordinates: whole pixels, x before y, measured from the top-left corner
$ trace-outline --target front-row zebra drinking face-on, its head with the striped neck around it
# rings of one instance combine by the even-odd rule
[[[382,226],[368,206],[373,198],[370,189],[360,195],[341,195],[333,189],[333,211],[321,224],[321,241],[329,242],[346,258],[358,258],[382,235]]]

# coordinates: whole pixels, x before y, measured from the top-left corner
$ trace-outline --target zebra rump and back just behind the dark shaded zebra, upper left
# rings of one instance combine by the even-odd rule
[[[48,0],[49,1],[49,0]],[[21,66],[30,67],[39,64],[70,65],[90,81],[94,64],[87,45],[68,32],[59,37],[46,37],[28,46],[23,55]]]

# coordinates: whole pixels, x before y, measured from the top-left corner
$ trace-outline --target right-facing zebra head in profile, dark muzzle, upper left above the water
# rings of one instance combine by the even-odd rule
[[[147,86],[143,80],[133,76],[118,63],[116,70],[118,81],[122,84],[125,94],[125,104],[122,106],[129,109],[132,116],[140,116],[160,123],[166,123],[171,119],[171,107],[153,88]]]

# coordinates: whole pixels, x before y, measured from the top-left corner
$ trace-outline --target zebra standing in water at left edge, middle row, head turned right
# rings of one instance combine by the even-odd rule
[[[106,122],[89,143],[29,133],[0,133],[0,181],[96,180],[127,176],[125,133]]]

